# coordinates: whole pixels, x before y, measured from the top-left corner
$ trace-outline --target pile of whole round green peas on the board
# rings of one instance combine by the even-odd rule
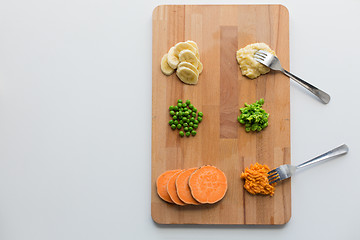
[[[179,99],[177,105],[169,107],[169,113],[172,117],[169,125],[172,130],[180,130],[180,137],[196,135],[196,129],[202,122],[203,113],[197,113],[197,109],[191,104],[190,100],[183,102]]]

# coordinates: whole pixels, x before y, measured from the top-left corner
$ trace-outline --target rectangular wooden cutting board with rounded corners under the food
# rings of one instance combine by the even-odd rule
[[[195,86],[160,70],[161,57],[180,41],[197,42],[203,73]],[[291,185],[273,197],[253,196],[240,174],[259,162],[275,168],[290,163],[290,83],[271,71],[255,80],[241,75],[235,53],[255,42],[275,50],[289,69],[289,14],[281,5],[162,5],[153,12],[151,216],[160,224],[285,224],[291,216]],[[246,133],[239,108],[264,98],[269,126]],[[189,99],[204,113],[195,137],[171,130],[168,108]],[[225,172],[228,191],[213,205],[176,206],[156,193],[166,170],[215,165]]]

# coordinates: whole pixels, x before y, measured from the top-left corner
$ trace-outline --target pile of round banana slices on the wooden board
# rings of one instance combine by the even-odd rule
[[[200,62],[199,48],[196,42],[188,40],[179,42],[161,59],[161,71],[169,76],[174,73],[186,84],[197,84],[203,70]]]

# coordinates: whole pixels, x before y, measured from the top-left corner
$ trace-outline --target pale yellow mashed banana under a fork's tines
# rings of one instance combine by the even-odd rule
[[[261,74],[266,74],[270,71],[270,68],[262,65],[254,59],[254,54],[258,50],[264,50],[276,55],[275,52],[265,43],[253,43],[239,49],[236,52],[236,60],[240,64],[242,75],[251,79],[257,78]]]

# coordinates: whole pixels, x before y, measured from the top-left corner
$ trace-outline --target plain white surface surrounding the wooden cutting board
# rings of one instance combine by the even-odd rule
[[[294,164],[283,227],[159,226],[150,214],[152,10],[180,1],[0,1],[0,239],[360,239],[360,1],[290,12]],[[204,3],[184,1],[183,3]],[[243,1],[207,1],[240,4]]]

